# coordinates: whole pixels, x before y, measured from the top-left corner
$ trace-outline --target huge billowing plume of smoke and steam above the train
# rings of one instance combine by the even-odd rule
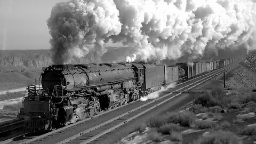
[[[255,14],[253,0],[73,0],[56,4],[47,25],[55,64],[101,57],[108,43],[131,49],[127,61],[196,59],[254,49]]]

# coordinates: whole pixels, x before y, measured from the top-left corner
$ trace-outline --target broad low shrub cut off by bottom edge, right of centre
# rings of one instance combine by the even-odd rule
[[[226,131],[215,131],[205,137],[201,137],[194,141],[195,144],[222,144],[222,143],[233,143],[240,144],[241,141],[238,140],[237,136],[234,133]]]

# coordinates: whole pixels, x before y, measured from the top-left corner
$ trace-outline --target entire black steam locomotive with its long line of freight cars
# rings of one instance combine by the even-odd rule
[[[217,69],[221,62],[52,65],[43,68],[42,86],[27,87],[18,117],[25,119],[29,133],[55,130]]]

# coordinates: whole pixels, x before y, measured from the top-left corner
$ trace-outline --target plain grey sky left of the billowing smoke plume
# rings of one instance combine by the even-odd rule
[[[0,0],[0,50],[50,49],[46,21],[52,7],[66,1]]]

